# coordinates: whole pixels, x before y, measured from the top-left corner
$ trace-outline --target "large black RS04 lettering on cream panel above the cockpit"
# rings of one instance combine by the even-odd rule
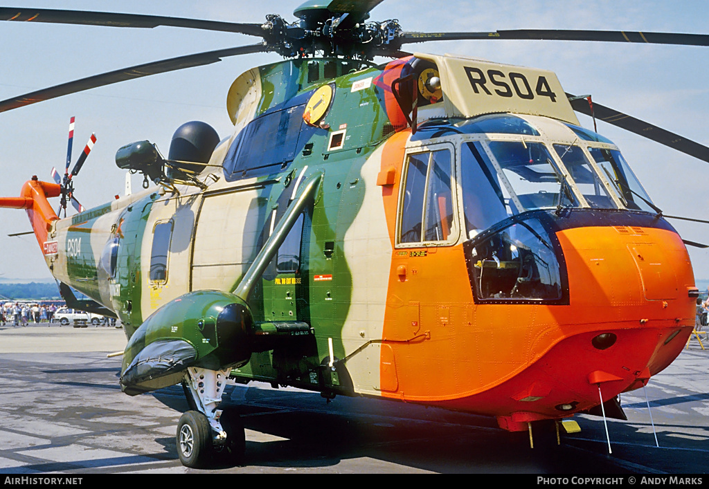
[[[532,100],[537,94],[538,96],[549,97],[552,102],[557,101],[557,94],[554,94],[552,87],[549,86],[549,81],[543,75],[537,78],[537,85],[535,90],[532,91],[530,82],[522,73],[509,72],[505,74],[499,69],[488,69],[485,73],[480,68],[469,66],[465,67],[465,72],[468,75],[470,86],[476,94],[480,94],[482,90],[485,94],[492,95],[487,86],[490,84],[493,91],[501,97],[513,97],[516,95],[520,99]]]

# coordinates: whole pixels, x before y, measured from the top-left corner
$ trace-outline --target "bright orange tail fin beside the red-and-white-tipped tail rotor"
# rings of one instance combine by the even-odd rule
[[[30,224],[40,248],[47,241],[47,232],[52,223],[59,219],[47,200],[62,194],[61,186],[47,181],[39,181],[36,176],[25,182],[20,197],[0,197],[0,208],[26,209]]]

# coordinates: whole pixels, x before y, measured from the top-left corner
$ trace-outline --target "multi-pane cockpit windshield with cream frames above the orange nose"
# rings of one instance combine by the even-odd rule
[[[469,237],[501,218],[542,208],[647,210],[652,202],[613,142],[548,118],[486,116],[456,124]],[[498,120],[499,119],[499,120]],[[520,118],[522,119],[522,118]],[[495,122],[498,120],[497,122]],[[535,123],[544,125],[537,130]],[[499,133],[483,132],[503,127]],[[444,133],[438,126],[439,134]],[[515,132],[516,130],[516,132]]]

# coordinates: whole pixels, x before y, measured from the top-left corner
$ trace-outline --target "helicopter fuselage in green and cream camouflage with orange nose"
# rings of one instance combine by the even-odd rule
[[[411,72],[418,80],[417,58],[436,69],[442,94],[419,95],[412,135],[392,84]],[[114,310],[129,338],[150,323],[129,343],[124,367],[158,340],[187,342],[205,359],[230,348],[214,325],[228,302],[220,294],[238,288],[315,176],[312,202],[247,300],[260,336],[233,371],[240,381],[442,405],[520,429],[597,405],[597,385],[604,399],[637,388],[681,352],[694,321],[686,249],[664,220],[613,193],[601,163],[588,168],[606,189],[607,208],[593,206],[572,179],[576,204],[532,208],[501,177],[503,205],[517,211],[472,231],[471,186],[460,178],[467,147],[578,144],[571,127],[578,120],[553,74],[423,55],[351,69],[342,60],[291,60],[250,70],[230,91],[235,133],[213,153],[218,167],[202,172],[206,190],[149,189],[55,221],[40,240],[57,279]],[[323,86],[330,89],[318,91]],[[521,114],[520,124],[537,129],[465,125],[500,113]],[[592,139],[588,154],[615,151]],[[489,171],[503,174],[485,151]],[[447,193],[421,196],[414,205],[423,217],[408,229],[411,162],[425,155],[433,167],[436,154],[451,162]],[[549,162],[557,156],[566,152]],[[427,181],[434,177],[431,170]],[[488,203],[479,196],[477,205]],[[430,215],[435,229],[425,226]],[[475,258],[484,240],[515,225],[534,227],[532,239],[551,250],[559,269],[553,287],[525,293],[535,279],[531,268],[523,273],[522,258]],[[544,253],[535,254],[537,269],[549,262]],[[505,292],[510,269],[517,286]],[[488,274],[497,274],[501,290],[483,290]],[[208,308],[150,319],[186,293],[208,291],[220,291]],[[616,340],[598,347],[592,341],[601,335]]]

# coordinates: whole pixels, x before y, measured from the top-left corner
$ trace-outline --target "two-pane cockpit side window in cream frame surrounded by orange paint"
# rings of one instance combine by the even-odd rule
[[[410,154],[399,242],[447,241],[454,228],[450,150]]]

